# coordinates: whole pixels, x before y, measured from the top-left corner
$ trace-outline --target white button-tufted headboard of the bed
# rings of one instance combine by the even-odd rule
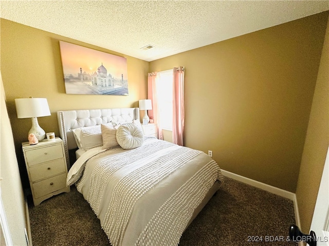
[[[139,120],[139,108],[87,109],[57,111],[60,137],[64,141],[67,168],[70,168],[69,150],[77,149],[72,129],[90,127],[112,122],[121,124]]]

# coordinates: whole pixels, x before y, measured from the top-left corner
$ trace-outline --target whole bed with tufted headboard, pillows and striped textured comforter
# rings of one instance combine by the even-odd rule
[[[144,136],[138,108],[57,116],[67,186],[75,184],[114,246],[177,245],[223,182],[204,152]]]

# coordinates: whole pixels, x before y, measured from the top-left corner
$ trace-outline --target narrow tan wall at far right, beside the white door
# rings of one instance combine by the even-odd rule
[[[329,145],[329,22],[310,111],[297,185],[297,201],[303,232],[309,232]],[[325,211],[323,211],[323,216]],[[319,232],[317,232],[319,233]]]

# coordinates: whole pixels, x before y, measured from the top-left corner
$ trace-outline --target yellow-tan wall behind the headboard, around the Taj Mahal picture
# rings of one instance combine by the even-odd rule
[[[59,40],[126,57],[129,96],[65,94]],[[51,116],[39,117],[38,121],[46,132],[55,132],[58,135],[58,110],[138,107],[138,100],[147,95],[149,63],[1,19],[1,70],[15,147],[20,166],[24,169],[21,142],[27,141],[31,120],[17,119],[15,98],[46,97]],[[24,181],[26,184],[26,180]]]

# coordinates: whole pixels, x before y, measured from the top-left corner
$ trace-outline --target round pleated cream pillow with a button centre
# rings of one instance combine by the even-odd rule
[[[118,128],[116,138],[122,149],[135,149],[143,144],[144,134],[136,124],[130,123]]]

